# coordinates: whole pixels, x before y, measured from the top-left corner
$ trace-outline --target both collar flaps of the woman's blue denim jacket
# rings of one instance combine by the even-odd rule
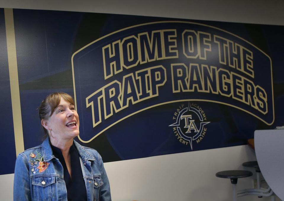
[[[73,143],[76,147],[76,149],[79,152],[80,157],[84,161],[96,161],[95,157],[88,152],[82,145],[80,145],[78,142],[76,142],[73,139]],[[42,155],[43,155],[43,161],[50,161],[52,158],[55,158],[55,156],[52,153],[52,149],[49,142],[49,137],[46,137],[46,139],[43,141],[42,145]]]

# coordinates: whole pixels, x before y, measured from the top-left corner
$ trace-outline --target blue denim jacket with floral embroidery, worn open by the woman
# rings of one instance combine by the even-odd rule
[[[109,180],[99,153],[73,140],[80,155],[88,201],[110,201]],[[14,174],[14,200],[67,201],[63,167],[52,154],[49,138],[20,153]]]

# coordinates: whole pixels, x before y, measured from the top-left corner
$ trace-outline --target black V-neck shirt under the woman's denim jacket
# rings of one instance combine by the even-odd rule
[[[63,167],[63,176],[67,189],[67,200],[68,201],[86,201],[87,191],[85,186],[85,181],[83,179],[81,162],[79,159],[79,153],[76,149],[74,143],[70,147],[70,161],[71,161],[71,176],[68,172],[64,157],[59,148],[51,145],[52,152],[56,158],[59,159]]]

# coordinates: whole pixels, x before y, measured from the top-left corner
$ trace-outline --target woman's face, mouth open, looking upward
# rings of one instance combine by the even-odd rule
[[[61,98],[53,114],[46,120],[47,130],[57,139],[71,139],[79,135],[79,116],[75,106]]]

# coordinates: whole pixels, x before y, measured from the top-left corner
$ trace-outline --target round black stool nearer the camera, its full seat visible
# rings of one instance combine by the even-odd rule
[[[252,172],[246,170],[227,170],[227,171],[217,172],[216,176],[220,178],[228,178],[231,180],[231,183],[233,185],[233,200],[236,201],[237,200],[236,185],[238,182],[238,178],[252,176]]]

